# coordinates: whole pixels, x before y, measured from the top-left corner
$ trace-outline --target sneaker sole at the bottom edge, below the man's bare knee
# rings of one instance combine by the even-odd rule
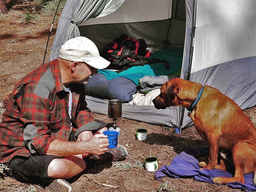
[[[71,192],[72,188],[68,181],[64,179],[54,180],[46,189],[50,192]]]

